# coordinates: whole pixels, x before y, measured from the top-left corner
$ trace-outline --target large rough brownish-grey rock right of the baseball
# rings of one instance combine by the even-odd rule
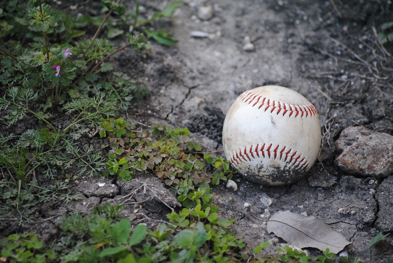
[[[364,177],[393,173],[393,136],[364,127],[348,127],[335,143],[342,151],[334,163],[341,170]]]

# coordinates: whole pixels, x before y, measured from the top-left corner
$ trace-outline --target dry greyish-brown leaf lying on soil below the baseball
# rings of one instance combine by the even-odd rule
[[[351,243],[342,234],[334,232],[322,219],[306,217],[289,210],[274,213],[266,228],[268,233],[273,232],[299,248],[313,247],[322,251],[329,248],[330,252],[337,254]]]

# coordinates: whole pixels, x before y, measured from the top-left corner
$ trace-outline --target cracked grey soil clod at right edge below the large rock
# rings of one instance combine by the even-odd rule
[[[389,176],[378,186],[376,199],[379,202],[378,219],[375,227],[382,232],[393,230],[393,176]]]

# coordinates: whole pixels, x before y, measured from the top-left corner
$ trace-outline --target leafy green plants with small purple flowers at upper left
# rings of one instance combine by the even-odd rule
[[[7,86],[23,86],[32,90],[39,91],[38,96],[46,95],[46,103],[44,104],[44,112],[52,107],[52,103],[63,104],[72,98],[88,99],[90,96],[105,96],[107,101],[119,106],[120,109],[127,109],[133,96],[147,96],[148,92],[143,85],[136,83],[124,74],[110,72],[112,64],[106,63],[109,57],[115,56],[119,51],[131,46],[136,50],[148,49],[146,37],[141,33],[143,25],[149,24],[162,17],[172,17],[174,9],[181,3],[174,2],[165,7],[162,12],[157,12],[149,21],[136,23],[138,15],[135,15],[135,30],[127,33],[129,44],[116,48],[107,39],[97,38],[104,26],[107,26],[107,20],[110,14],[116,13],[123,16],[125,8],[118,2],[104,1],[104,6],[108,9],[107,17],[103,18],[97,32],[92,40],[79,40],[71,43],[75,37],[84,34],[79,28],[87,26],[94,22],[89,16],[83,16],[73,21],[70,15],[55,12],[48,4],[41,3],[40,0],[31,0],[31,6],[20,3],[21,1],[12,1],[7,8],[4,9],[6,20],[2,23],[0,37],[8,36],[11,40],[0,45],[0,66],[2,74],[0,81]],[[26,16],[18,18],[16,15],[22,15],[22,12],[16,12],[20,6],[28,11],[30,20]],[[12,15],[11,15],[12,13]],[[14,14],[16,13],[16,14]],[[126,15],[126,19],[132,15]],[[30,32],[18,35],[18,31],[13,30],[14,24],[24,25],[26,28],[28,23],[32,25]],[[76,29],[75,29],[76,28]],[[139,31],[138,31],[138,30]],[[44,37],[42,42],[41,37]],[[64,34],[66,33],[65,37]],[[164,36],[164,40],[171,40],[166,31],[160,29]],[[166,32],[166,33],[165,33]],[[123,31],[110,28],[108,34],[111,38],[116,37]],[[19,39],[24,37],[33,38],[34,44],[29,47],[22,46]],[[51,44],[53,43],[53,44]],[[100,75],[101,72],[109,72],[113,74],[111,79],[116,81],[108,82],[105,76]],[[110,92],[108,92],[110,90]],[[117,105],[119,104],[119,105]]]

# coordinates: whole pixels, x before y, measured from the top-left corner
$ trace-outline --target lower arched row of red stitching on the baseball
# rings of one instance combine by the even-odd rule
[[[280,148],[280,145],[277,145],[274,147],[272,143],[268,145],[266,149],[265,148],[266,143],[264,143],[261,147],[259,148],[259,144],[255,146],[253,149],[253,145],[249,148],[249,151],[247,151],[247,147],[244,147],[244,149],[239,149],[236,153],[232,154],[230,158],[230,162],[233,166],[237,166],[238,164],[242,162],[247,162],[251,161],[251,158],[256,158],[254,154],[259,158],[260,153],[262,154],[262,157],[265,158],[265,153],[268,156],[268,158],[274,158],[274,160],[283,160],[283,162],[286,162],[288,164],[292,164],[293,169],[297,169],[299,171],[302,170],[308,170],[309,169],[309,163],[307,160],[305,160],[305,157],[302,157],[301,154],[298,154],[298,152],[292,153],[292,149],[289,149],[289,151],[286,151],[286,146],[284,146],[282,149]],[[266,156],[266,157],[267,157]],[[289,157],[289,161],[287,162]]]

